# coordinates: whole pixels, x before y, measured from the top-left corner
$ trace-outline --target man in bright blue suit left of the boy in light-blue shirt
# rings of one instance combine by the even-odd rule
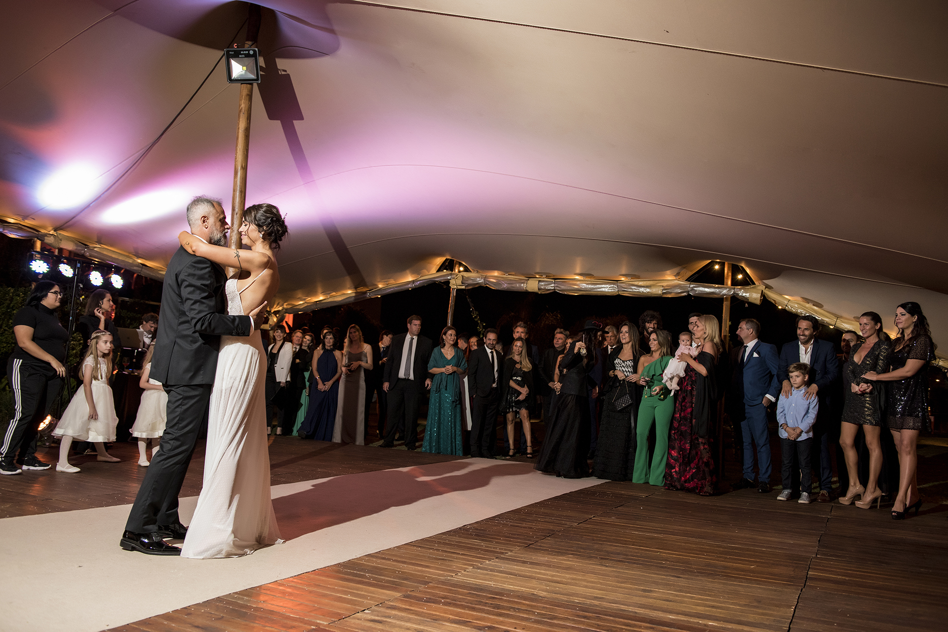
[[[779,369],[776,347],[757,339],[760,323],[744,318],[738,325],[738,337],[744,346],[738,353],[735,382],[744,399],[744,420],[740,433],[744,442],[744,476],[735,485],[738,489],[754,487],[754,451],[757,445],[757,491],[770,493],[771,453],[770,432],[767,428],[767,406],[776,401],[780,392],[776,373]]]

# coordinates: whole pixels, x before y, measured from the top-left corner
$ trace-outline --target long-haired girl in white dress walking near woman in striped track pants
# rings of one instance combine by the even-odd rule
[[[110,463],[118,462],[105,451],[106,442],[116,440],[115,400],[112,388],[109,388],[109,375],[112,374],[112,334],[97,330],[89,338],[89,351],[82,361],[82,390],[77,390],[72,401],[63,413],[63,419],[53,430],[54,437],[60,437],[60,460],[56,464],[57,472],[75,474],[79,468],[69,464],[69,447],[74,439],[93,442],[97,460]]]

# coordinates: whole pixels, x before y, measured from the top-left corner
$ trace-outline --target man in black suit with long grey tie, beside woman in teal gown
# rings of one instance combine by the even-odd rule
[[[431,340],[421,332],[421,316],[409,316],[409,331],[392,340],[385,363],[382,390],[389,395],[389,423],[382,447],[392,447],[399,424],[405,424],[405,447],[415,449],[418,436],[418,399],[424,388],[431,388],[428,360]]]

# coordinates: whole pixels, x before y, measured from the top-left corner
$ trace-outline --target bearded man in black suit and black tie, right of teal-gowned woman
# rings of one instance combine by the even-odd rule
[[[467,360],[467,384],[474,392],[471,405],[471,456],[493,459],[497,443],[497,408],[501,400],[501,358],[494,350],[497,330],[483,333],[483,345]]]

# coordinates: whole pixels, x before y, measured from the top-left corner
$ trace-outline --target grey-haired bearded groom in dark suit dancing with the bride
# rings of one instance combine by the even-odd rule
[[[188,224],[195,237],[227,245],[229,226],[220,200],[195,197],[188,205]],[[125,551],[181,553],[164,538],[183,539],[188,532],[178,518],[177,497],[208,412],[220,336],[253,334],[266,305],[249,316],[228,316],[225,281],[224,270],[216,263],[183,247],[168,263],[151,370],[151,377],[168,393],[168,422],[125,524],[119,543]]]

